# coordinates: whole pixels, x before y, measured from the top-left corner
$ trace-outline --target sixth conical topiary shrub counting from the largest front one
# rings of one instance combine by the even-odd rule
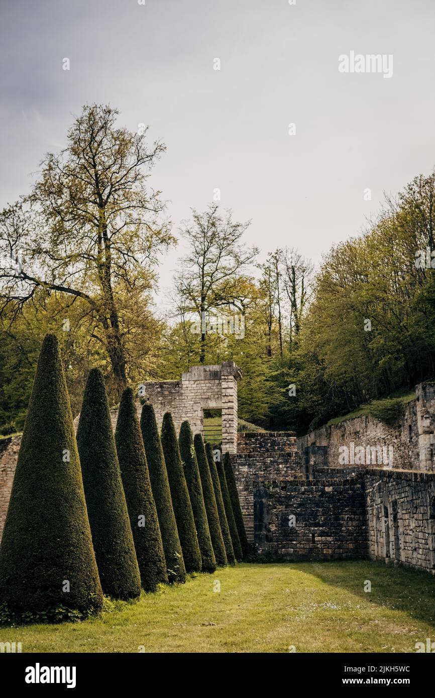
[[[214,572],[214,570],[216,570],[216,558],[214,556],[212,539],[210,538],[204,497],[202,495],[200,473],[196,461],[191,425],[189,422],[183,422],[179,430],[179,452],[184,463],[184,475],[186,476],[187,489],[189,489],[189,496],[191,498],[196,533],[198,533],[202,572]]]

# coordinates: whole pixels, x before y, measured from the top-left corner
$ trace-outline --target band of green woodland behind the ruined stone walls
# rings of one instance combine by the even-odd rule
[[[106,136],[112,142],[115,136],[112,128],[109,131]],[[125,139],[131,143],[126,133],[121,135],[121,140]],[[45,168],[47,181],[49,174]],[[40,186],[38,191],[45,196]],[[242,273],[223,280],[221,271],[226,274],[228,263],[237,261],[234,248],[228,247],[228,239],[222,235],[223,218],[216,207],[205,214],[195,211],[193,223],[184,231],[191,243],[188,259],[183,262],[184,271],[189,273],[186,276],[183,272],[183,279],[177,279],[182,309],[177,324],[165,325],[153,316],[149,288],[154,275],[148,267],[142,265],[140,274],[137,266],[129,268],[127,288],[122,283],[113,287],[128,380],[178,380],[182,371],[198,364],[199,358],[206,364],[233,359],[244,373],[238,385],[239,417],[267,429],[306,433],[340,415],[362,414],[362,406],[434,378],[435,269],[430,264],[428,268],[425,259],[422,266],[415,264],[419,251],[435,247],[434,202],[435,174],[418,175],[396,200],[386,200],[364,235],[332,246],[315,280],[309,262],[286,249],[267,255],[259,279],[247,276],[247,267],[242,265]],[[62,202],[62,207],[70,206],[71,202]],[[80,218],[82,214],[78,211],[77,215]],[[8,215],[3,216],[7,227]],[[218,230],[209,228],[204,237],[207,221],[215,221]],[[235,225],[237,237],[244,224]],[[24,230],[31,227],[24,226]],[[135,231],[124,232],[123,244],[137,242]],[[192,244],[197,241],[202,250],[207,236],[212,247],[206,246],[202,269]],[[27,237],[25,234],[25,245],[30,242]],[[68,231],[68,237],[68,258],[74,261],[70,248],[71,242],[75,243],[75,229]],[[148,246],[145,230],[140,237]],[[170,242],[167,231],[157,246],[165,242]],[[210,253],[216,243],[229,253],[223,267],[216,265],[219,255]],[[87,259],[88,252],[84,252]],[[81,250],[79,255],[80,268],[86,270]],[[98,255],[92,255],[89,263],[98,268]],[[66,273],[68,269],[62,266]],[[191,283],[186,285],[186,279]],[[191,332],[193,320],[200,318],[201,279],[207,283],[207,299],[202,304],[207,317],[216,313],[243,315],[244,336]],[[97,287],[91,284],[89,292],[91,302],[96,301],[99,308],[104,293]],[[133,292],[133,288],[140,291]],[[89,311],[89,299],[66,296],[52,292],[49,296],[47,289],[37,288],[32,298],[36,310],[28,305],[22,317],[14,320],[13,332],[6,321],[0,325],[0,424],[13,422],[17,430],[22,428],[37,347],[47,329],[57,333],[62,344],[73,413],[80,407],[89,364],[101,368],[110,389],[113,364],[117,363],[116,357],[108,356],[110,338],[95,311]],[[103,303],[103,310],[107,307]],[[73,332],[61,332],[62,317],[71,319]],[[371,321],[367,331],[366,320]],[[118,366],[118,373],[122,370],[123,366]],[[296,394],[290,396],[288,386],[292,383]],[[116,385],[112,385],[111,394],[115,399]]]

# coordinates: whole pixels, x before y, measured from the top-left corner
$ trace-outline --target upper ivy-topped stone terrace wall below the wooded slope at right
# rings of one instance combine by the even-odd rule
[[[346,419],[340,424],[322,426],[297,439],[297,449],[304,467],[314,473],[316,466],[338,468],[340,447],[392,448],[389,467],[399,470],[431,472],[435,465],[435,383],[420,383],[415,387],[415,399],[404,404],[397,424],[385,424],[371,416]],[[367,457],[362,467],[383,467],[379,458]],[[378,454],[376,454],[378,455]],[[355,463],[357,466],[358,463]]]

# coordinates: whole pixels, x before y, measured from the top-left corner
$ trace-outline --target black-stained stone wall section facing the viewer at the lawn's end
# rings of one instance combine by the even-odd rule
[[[254,483],[258,554],[280,560],[367,557],[364,475]]]

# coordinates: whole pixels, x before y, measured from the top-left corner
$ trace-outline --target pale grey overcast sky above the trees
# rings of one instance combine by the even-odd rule
[[[0,205],[84,103],[110,103],[167,146],[149,184],[175,234],[219,189],[261,258],[319,263],[434,168],[435,3],[291,1],[0,0]],[[341,72],[351,52],[389,69]],[[182,253],[162,259],[159,306]]]

